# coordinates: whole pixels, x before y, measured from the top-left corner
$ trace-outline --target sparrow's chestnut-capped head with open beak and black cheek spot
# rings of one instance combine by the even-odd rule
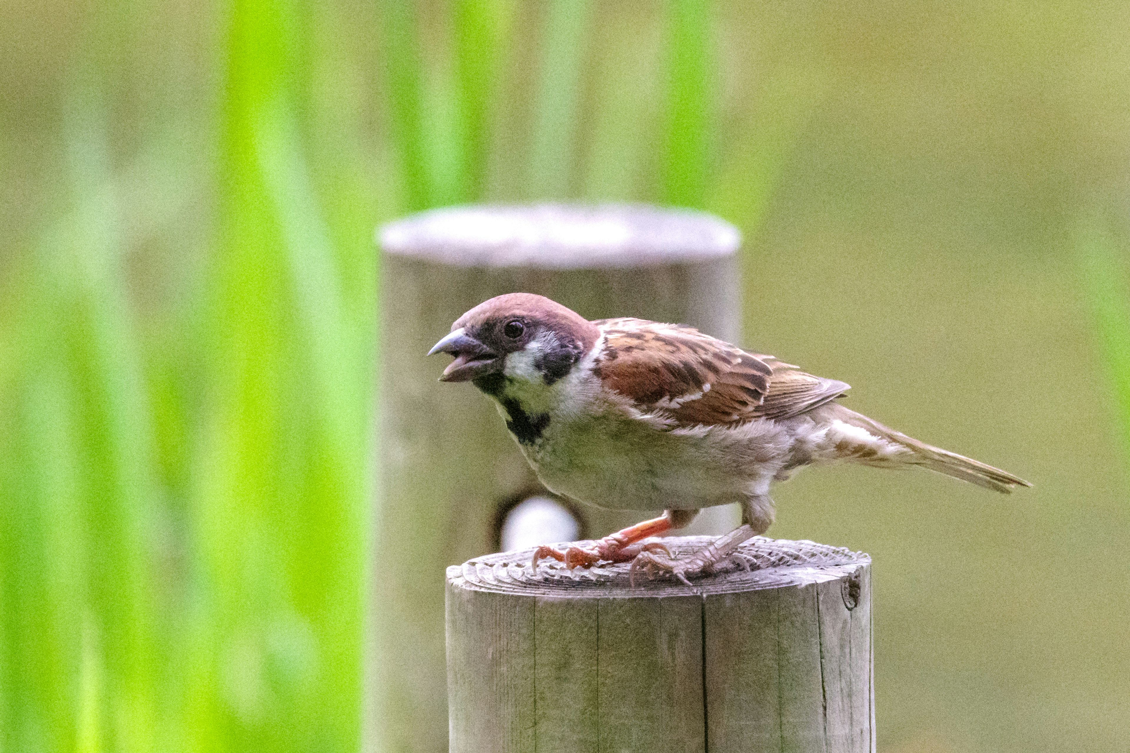
[[[503,378],[553,384],[568,374],[600,336],[580,314],[544,296],[511,292],[484,301],[451,325],[428,351],[455,357],[442,382],[477,387]]]

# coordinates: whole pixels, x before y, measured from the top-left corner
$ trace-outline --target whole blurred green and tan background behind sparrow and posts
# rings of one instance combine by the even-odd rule
[[[581,199],[733,221],[748,345],[1035,482],[779,490],[771,533],[875,558],[880,750],[1130,750],[1127,29],[1080,0],[0,5],[0,747],[385,750],[373,228]]]

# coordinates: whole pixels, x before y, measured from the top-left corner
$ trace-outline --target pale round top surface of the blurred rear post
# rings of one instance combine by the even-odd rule
[[[458,266],[581,269],[729,256],[741,235],[706,212],[647,204],[467,205],[389,222],[377,242]]]

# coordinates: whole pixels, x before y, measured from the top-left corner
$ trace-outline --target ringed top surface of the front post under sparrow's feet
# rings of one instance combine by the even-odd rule
[[[705,546],[712,540],[712,536],[666,536],[662,542],[676,555],[684,555]],[[824,583],[851,576],[860,566],[871,562],[871,558],[862,552],[838,546],[754,536],[738,548],[730,561],[722,563],[711,575],[693,579],[688,587],[673,577],[649,579],[637,576],[635,585],[632,585],[627,562],[568,570],[562,562],[542,560],[538,563],[538,571],[532,572],[532,555],[533,550],[528,549],[477,557],[463,564],[447,568],[447,581],[459,588],[513,596],[707,596]],[[846,594],[844,598],[847,599]]]

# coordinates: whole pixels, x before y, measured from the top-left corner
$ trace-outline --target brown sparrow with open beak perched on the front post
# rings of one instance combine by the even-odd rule
[[[918,466],[1009,492],[1010,473],[932,447],[838,401],[849,385],[801,371],[683,324],[588,321],[549,298],[514,292],[460,316],[428,352],[455,359],[442,382],[490,397],[538,479],[563,497],[615,509],[663,509],[589,545],[538,548],[531,567],[631,561],[631,573],[711,571],[772,525],[770,489],[835,462]],[[741,525],[676,558],[659,534],[704,507],[741,506]]]

